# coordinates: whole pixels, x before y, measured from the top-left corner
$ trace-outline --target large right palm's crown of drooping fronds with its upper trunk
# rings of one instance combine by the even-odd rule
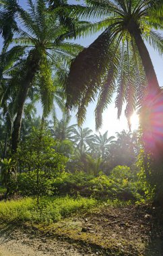
[[[163,53],[163,38],[158,32],[163,28],[162,1],[87,0],[86,3],[87,6],[73,7],[73,15],[100,19],[100,22],[89,26],[87,32],[103,32],[71,63],[65,89],[67,106],[78,106],[78,122],[82,123],[86,106],[99,94],[95,110],[98,129],[102,125],[104,108],[110,103],[113,92],[117,92],[118,117],[124,102],[127,102],[125,115],[129,119],[143,100],[142,119],[145,116],[150,119],[144,130],[156,128],[152,119],[158,105],[162,104],[162,94],[145,41]],[[158,119],[161,117],[162,114]],[[156,129],[151,132],[158,140]],[[144,137],[149,145],[147,139],[150,136],[145,131]]]

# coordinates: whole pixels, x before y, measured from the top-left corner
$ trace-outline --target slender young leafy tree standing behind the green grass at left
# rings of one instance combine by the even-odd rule
[[[64,171],[67,162],[65,156],[55,152],[54,146],[48,131],[36,129],[20,145],[14,157],[23,172],[18,176],[18,189],[22,193],[37,197],[51,193],[51,179]]]

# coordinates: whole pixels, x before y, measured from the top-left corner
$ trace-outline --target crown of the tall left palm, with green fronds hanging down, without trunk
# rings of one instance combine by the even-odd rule
[[[82,46],[63,42],[63,40],[58,41],[59,36],[67,32],[67,28],[61,26],[55,11],[53,13],[47,11],[43,0],[38,0],[35,4],[29,0],[28,11],[18,6],[18,22],[20,27],[14,34],[12,42],[22,46],[31,58],[34,55],[37,56],[35,61],[39,64],[40,95],[44,114],[47,115],[53,104],[55,93],[51,79],[52,71],[59,76],[60,80],[63,79],[65,71],[68,70],[69,61],[82,50]]]

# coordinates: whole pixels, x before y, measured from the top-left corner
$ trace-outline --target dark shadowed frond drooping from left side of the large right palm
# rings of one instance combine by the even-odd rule
[[[68,108],[77,106],[81,101],[82,94],[87,90],[96,92],[96,88],[100,88],[101,75],[107,70],[110,57],[108,49],[112,39],[111,32],[106,30],[72,61],[65,84]]]

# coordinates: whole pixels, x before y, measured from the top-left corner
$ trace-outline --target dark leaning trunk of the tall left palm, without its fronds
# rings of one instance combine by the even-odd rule
[[[18,148],[20,139],[20,129],[22,125],[22,116],[24,113],[24,104],[28,96],[28,90],[34,80],[34,76],[38,71],[40,57],[36,51],[31,51],[28,55],[28,59],[22,70],[23,79],[20,81],[20,91],[18,93],[18,111],[15,121],[13,123],[13,132],[11,135],[11,152],[15,153]]]

